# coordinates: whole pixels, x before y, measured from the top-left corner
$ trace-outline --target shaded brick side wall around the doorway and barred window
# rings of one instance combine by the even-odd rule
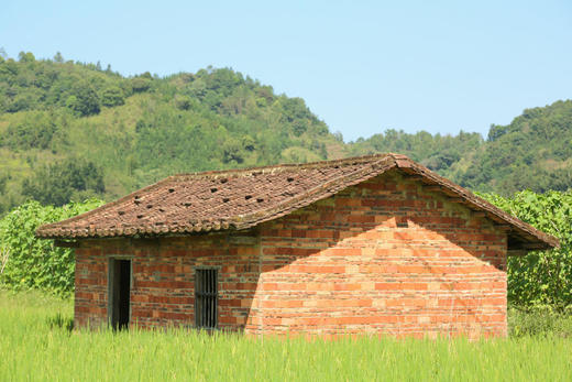
[[[106,325],[110,257],[132,257],[131,324],[195,325],[195,268],[219,269],[219,327],[240,330],[258,281],[258,239],[209,234],[90,240],[76,249],[75,324]]]

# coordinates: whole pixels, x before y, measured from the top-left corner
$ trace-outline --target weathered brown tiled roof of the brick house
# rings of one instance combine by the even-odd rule
[[[341,189],[397,168],[454,201],[484,211],[522,249],[558,245],[558,240],[398,154],[308,164],[169,176],[117,201],[42,226],[42,238],[79,239],[188,234],[241,230],[287,215]]]

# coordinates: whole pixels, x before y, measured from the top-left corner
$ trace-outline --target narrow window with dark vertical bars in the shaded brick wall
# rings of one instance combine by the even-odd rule
[[[217,328],[218,271],[199,269],[195,273],[195,325],[197,328]]]

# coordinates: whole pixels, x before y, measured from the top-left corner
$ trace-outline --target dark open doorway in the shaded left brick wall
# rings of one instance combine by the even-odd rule
[[[110,259],[111,326],[113,329],[129,327],[129,298],[131,294],[131,260]]]

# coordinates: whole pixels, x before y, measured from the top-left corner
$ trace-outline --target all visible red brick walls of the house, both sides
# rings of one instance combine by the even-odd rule
[[[209,265],[224,329],[506,335],[506,234],[396,172],[240,237],[85,241],[77,326],[107,321],[110,255],[133,257],[132,323],[143,327],[193,326],[194,268]]]

